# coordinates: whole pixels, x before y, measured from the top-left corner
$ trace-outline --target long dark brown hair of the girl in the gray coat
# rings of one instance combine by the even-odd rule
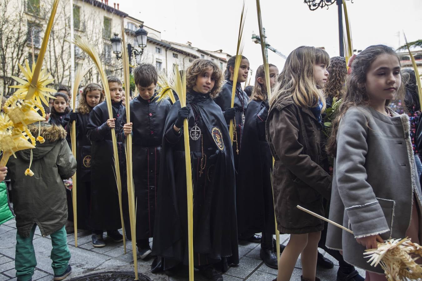
[[[386,45],[373,45],[369,46],[362,52],[360,52],[352,63],[352,72],[349,74],[346,80],[346,93],[343,96],[343,102],[338,107],[338,112],[332,123],[331,135],[327,141],[327,153],[335,157],[337,153],[337,132],[338,125],[341,121],[341,118],[346,113],[346,111],[353,106],[357,105],[368,105],[369,104],[369,95],[366,92],[365,83],[366,83],[366,74],[368,73],[371,64],[376,60],[376,58],[382,54],[391,54],[397,57],[398,62],[400,59],[396,52],[386,46]],[[401,79],[404,77],[402,75]],[[398,89],[395,99],[403,100],[404,95],[404,85],[401,83],[400,88]],[[390,104],[391,100],[385,102],[385,106]]]

